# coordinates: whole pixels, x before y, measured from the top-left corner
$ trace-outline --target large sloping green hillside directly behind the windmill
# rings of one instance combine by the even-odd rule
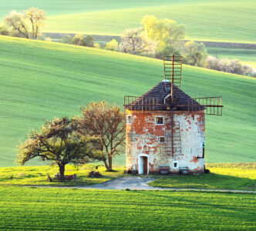
[[[46,119],[77,115],[93,100],[122,105],[123,95],[141,95],[163,79],[157,59],[5,36],[0,66],[0,166],[15,165],[19,140]],[[255,162],[256,79],[184,65],[181,89],[223,95],[224,115],[206,118],[207,162]]]

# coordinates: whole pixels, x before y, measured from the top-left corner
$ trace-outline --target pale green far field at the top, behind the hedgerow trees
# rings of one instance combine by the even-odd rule
[[[231,0],[11,0],[2,2],[0,16],[31,6],[45,10],[45,32],[120,35],[140,26],[144,15],[170,18],[187,26],[190,39],[255,43],[256,2]]]

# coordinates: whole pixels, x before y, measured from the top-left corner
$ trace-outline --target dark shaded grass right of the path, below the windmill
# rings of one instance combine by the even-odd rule
[[[181,189],[241,189],[256,190],[256,180],[216,173],[200,175],[168,175],[152,176],[157,180],[150,182],[150,186]]]

